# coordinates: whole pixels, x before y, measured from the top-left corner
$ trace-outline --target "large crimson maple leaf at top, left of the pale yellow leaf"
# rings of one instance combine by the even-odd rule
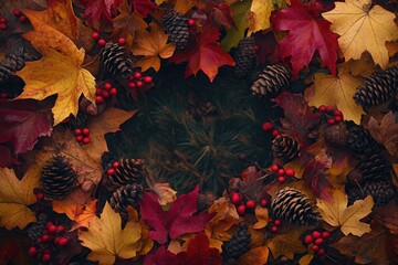
[[[331,23],[320,15],[320,4],[302,4],[292,0],[292,6],[276,10],[272,15],[272,23],[277,31],[289,31],[280,42],[280,57],[292,56],[290,62],[295,78],[301,68],[308,65],[315,51],[323,60],[322,66],[327,66],[336,75],[337,34],[329,29]]]

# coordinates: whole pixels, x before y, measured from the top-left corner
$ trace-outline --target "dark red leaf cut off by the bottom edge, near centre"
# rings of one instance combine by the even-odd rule
[[[209,237],[201,232],[189,241],[186,252],[177,254],[176,264],[221,265],[221,255],[216,247],[210,247]]]

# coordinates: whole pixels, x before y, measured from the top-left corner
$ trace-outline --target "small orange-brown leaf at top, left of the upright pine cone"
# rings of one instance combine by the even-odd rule
[[[137,62],[137,66],[142,67],[143,72],[150,67],[159,71],[160,57],[170,57],[175,49],[175,44],[167,43],[165,29],[153,22],[150,23],[150,33],[148,31],[142,31],[136,34],[132,52],[134,55],[145,56]]]

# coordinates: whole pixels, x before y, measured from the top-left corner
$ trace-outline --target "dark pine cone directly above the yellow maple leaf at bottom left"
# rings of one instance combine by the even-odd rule
[[[127,184],[117,189],[111,198],[111,206],[122,215],[123,220],[127,220],[127,208],[136,206],[143,195],[143,187],[140,184]]]

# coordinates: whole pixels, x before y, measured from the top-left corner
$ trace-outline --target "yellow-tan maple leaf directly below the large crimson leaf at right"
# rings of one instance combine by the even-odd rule
[[[338,66],[337,76],[324,73],[316,73],[314,76],[314,91],[304,92],[308,104],[316,107],[334,106],[343,112],[345,119],[360,124],[364,109],[355,103],[353,96],[362,84],[362,78],[353,76],[344,65]]]

